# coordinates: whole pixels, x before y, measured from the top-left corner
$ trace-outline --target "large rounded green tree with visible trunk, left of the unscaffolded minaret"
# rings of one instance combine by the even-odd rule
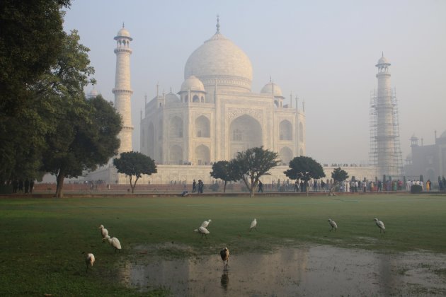
[[[57,121],[57,133],[48,135],[43,153],[42,169],[57,177],[56,197],[63,197],[65,177],[106,164],[120,146],[121,118],[111,103],[98,95],[75,106],[60,108],[65,119]]]

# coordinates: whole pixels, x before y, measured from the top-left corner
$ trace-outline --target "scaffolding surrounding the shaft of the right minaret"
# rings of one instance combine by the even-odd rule
[[[369,163],[377,168],[379,175],[385,174],[387,177],[396,179],[401,177],[403,172],[403,158],[401,153],[401,144],[399,140],[399,113],[398,113],[398,100],[396,99],[396,91],[391,89],[391,116],[392,116],[392,129],[391,134],[385,136],[384,141],[392,141],[393,149],[387,151],[386,148],[379,146],[380,136],[378,136],[378,110],[382,108],[379,104],[377,91],[370,92],[370,153]],[[379,156],[390,155],[387,163],[379,163]],[[379,179],[382,176],[378,176]]]

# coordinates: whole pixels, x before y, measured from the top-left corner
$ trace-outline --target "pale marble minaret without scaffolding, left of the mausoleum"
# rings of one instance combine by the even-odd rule
[[[116,40],[116,76],[115,76],[115,88],[113,88],[113,94],[115,94],[115,108],[118,110],[122,117],[122,130],[119,134],[121,141],[118,153],[125,151],[132,151],[132,109],[130,99],[132,98],[132,88],[130,87],[130,41],[133,40],[130,37],[129,31],[125,30],[122,23],[121,30],[115,36]]]

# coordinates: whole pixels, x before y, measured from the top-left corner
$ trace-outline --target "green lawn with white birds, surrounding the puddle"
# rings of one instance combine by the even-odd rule
[[[446,252],[446,195],[0,199],[0,295],[138,296],[118,281],[141,254],[195,257],[302,243]],[[384,221],[380,234],[373,219]],[[252,219],[257,231],[248,231]],[[329,232],[327,220],[338,223]],[[212,219],[207,240],[193,233]],[[114,255],[98,226],[120,239]],[[173,244],[172,244],[173,243]],[[93,252],[93,273],[84,255]],[[167,291],[154,289],[152,296]],[[147,296],[148,293],[144,293]]]

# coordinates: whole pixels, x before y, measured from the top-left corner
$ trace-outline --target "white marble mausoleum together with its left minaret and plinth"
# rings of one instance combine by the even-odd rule
[[[220,32],[190,54],[178,93],[159,93],[145,98],[140,119],[139,151],[157,164],[158,173],[143,176],[142,183],[214,182],[212,163],[229,161],[247,148],[263,146],[278,153],[282,165],[270,170],[263,182],[286,179],[283,173],[297,156],[306,156],[305,104],[297,97],[286,100],[280,86],[268,81],[251,89],[253,66],[241,48]],[[132,37],[122,28],[116,40],[115,108],[122,116],[119,153],[132,150],[130,56]],[[94,95],[94,94],[93,94]],[[293,105],[293,101],[295,101]],[[89,180],[127,183],[112,163],[88,175]],[[348,170],[348,168],[345,168]],[[324,168],[331,178],[332,167]],[[374,178],[374,168],[350,168],[358,177]],[[355,173],[353,173],[354,175]]]

